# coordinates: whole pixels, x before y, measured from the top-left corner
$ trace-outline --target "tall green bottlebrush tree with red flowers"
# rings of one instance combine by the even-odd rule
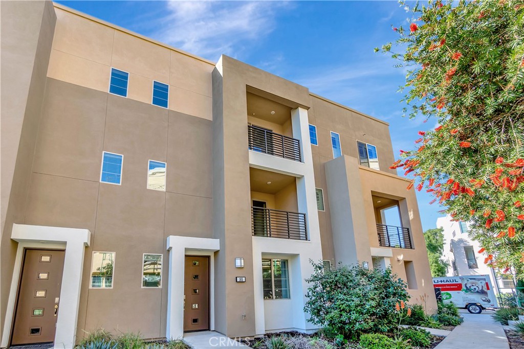
[[[439,126],[391,168],[472,223],[484,263],[524,278],[524,1],[401,5],[399,52],[381,51],[408,67],[405,116]]]

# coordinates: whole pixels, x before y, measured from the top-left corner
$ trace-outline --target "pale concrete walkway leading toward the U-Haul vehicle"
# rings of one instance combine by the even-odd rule
[[[502,325],[489,314],[461,315],[462,325],[455,327],[436,349],[509,349]]]

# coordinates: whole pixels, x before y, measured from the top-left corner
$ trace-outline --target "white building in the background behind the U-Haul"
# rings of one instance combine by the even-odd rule
[[[496,293],[512,292],[515,288],[513,276],[500,276],[498,270],[495,271],[484,264],[487,254],[478,253],[481,246],[468,236],[467,232],[470,229],[467,222],[452,221],[451,216],[447,215],[436,220],[436,227],[444,230],[443,257],[449,263],[446,276],[489,275]]]

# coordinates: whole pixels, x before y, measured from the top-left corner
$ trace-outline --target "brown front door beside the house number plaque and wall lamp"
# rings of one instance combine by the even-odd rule
[[[209,330],[209,257],[185,256],[184,331]]]

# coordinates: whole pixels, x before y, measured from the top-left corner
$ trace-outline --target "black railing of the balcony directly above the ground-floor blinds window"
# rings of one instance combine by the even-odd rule
[[[256,237],[308,240],[305,213],[251,208],[251,230]]]

